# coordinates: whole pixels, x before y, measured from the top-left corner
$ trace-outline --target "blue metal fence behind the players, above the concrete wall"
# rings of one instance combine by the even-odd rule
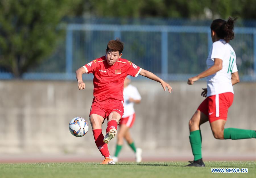
[[[230,44],[236,51],[241,80],[256,81],[256,28],[237,27],[235,35]],[[65,62],[65,72],[38,69],[25,73],[22,78],[75,80],[75,70],[104,55],[108,41],[115,38],[125,42],[124,58],[166,80],[187,80],[205,70],[205,59],[212,45],[208,26],[69,24],[65,49],[61,49],[65,51],[65,59],[61,59]],[[58,66],[61,61],[51,62]],[[42,65],[47,68],[49,64]],[[12,77],[0,73],[1,79]]]

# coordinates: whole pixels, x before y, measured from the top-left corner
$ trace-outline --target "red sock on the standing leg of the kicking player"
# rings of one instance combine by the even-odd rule
[[[116,121],[115,121],[116,122]],[[93,136],[94,136],[94,141],[96,143],[96,146],[100,150],[100,153],[102,156],[109,157],[109,151],[108,151],[108,144],[103,142],[104,136],[102,134],[102,129],[94,129],[92,130]]]

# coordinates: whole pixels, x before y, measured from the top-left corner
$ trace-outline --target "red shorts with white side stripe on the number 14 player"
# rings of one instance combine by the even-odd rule
[[[232,92],[208,96],[198,107],[212,123],[218,119],[227,120],[228,108],[232,105],[234,94]]]

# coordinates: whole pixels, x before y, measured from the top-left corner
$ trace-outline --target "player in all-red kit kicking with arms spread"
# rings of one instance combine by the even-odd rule
[[[115,164],[108,151],[108,142],[117,133],[117,124],[123,115],[123,83],[126,76],[137,77],[139,74],[161,83],[164,91],[172,91],[172,87],[155,74],[141,69],[132,62],[122,59],[123,43],[110,40],[106,55],[94,59],[76,71],[79,90],[85,88],[82,74],[93,73],[94,99],[90,110],[90,123],[96,146],[105,160],[102,164]],[[106,136],[102,134],[102,124],[107,118]]]

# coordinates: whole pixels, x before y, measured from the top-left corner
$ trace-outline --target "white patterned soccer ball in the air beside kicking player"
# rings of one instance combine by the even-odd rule
[[[88,132],[89,126],[87,121],[82,117],[75,117],[69,123],[69,131],[72,135],[81,137]]]

